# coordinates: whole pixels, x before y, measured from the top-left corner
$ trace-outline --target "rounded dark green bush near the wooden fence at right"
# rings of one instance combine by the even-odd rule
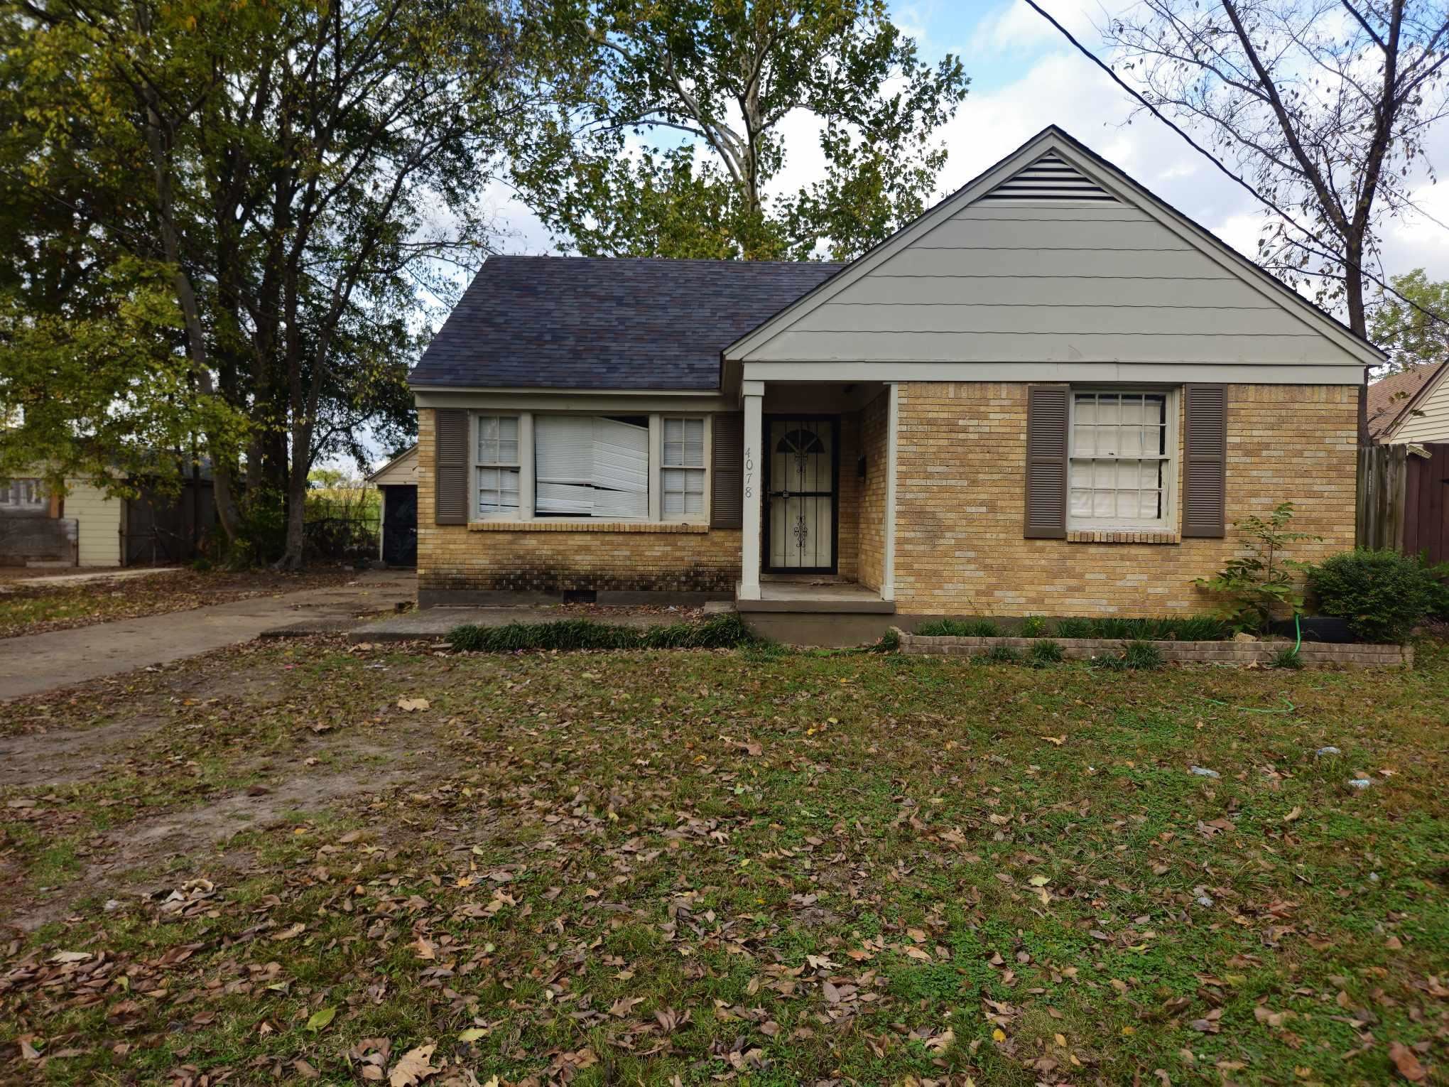
[[[1429,616],[1439,594],[1430,568],[1419,559],[1368,548],[1313,567],[1308,590],[1323,615],[1348,620],[1366,642],[1401,642]]]

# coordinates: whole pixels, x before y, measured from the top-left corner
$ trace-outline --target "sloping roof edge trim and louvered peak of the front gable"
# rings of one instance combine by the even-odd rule
[[[1101,158],[1101,155],[1055,125],[1042,129],[1026,143],[978,174],[914,222],[901,228],[869,252],[846,265],[839,275],[832,277],[809,294],[785,306],[769,317],[769,320],[762,322],[748,335],[740,336],[729,345],[724,352],[726,358],[745,359],[751,357],[752,352],[762,348],[774,336],[830,299],[839,296],[966,206],[975,201],[990,203],[1000,199],[1040,200],[1043,199],[1043,190],[1051,190],[1051,186],[1046,183],[1053,175],[1061,178],[1066,186],[1088,190],[1074,197],[1056,193],[1055,199],[1087,199],[1108,206],[1111,203],[1132,204],[1175,233],[1188,246],[1214,261],[1224,272],[1301,320],[1308,326],[1310,333],[1317,332],[1323,335],[1364,365],[1378,365],[1384,361],[1385,355],[1366,339],[1352,332],[1346,325],[1314,306],[1274,275],[1269,275],[1210,230],[1171,207],[1111,162]],[[1013,187],[1020,187],[1026,191],[1010,193]],[[1033,188],[1036,191],[1030,191]],[[1098,193],[1103,196],[1098,196]],[[1046,199],[1053,197],[1048,196]]]

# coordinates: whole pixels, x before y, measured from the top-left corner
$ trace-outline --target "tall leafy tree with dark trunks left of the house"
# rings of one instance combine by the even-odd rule
[[[241,532],[229,481],[245,445],[248,500],[285,493],[281,562],[300,565],[316,458],[361,455],[364,423],[381,419],[388,439],[412,425],[420,293],[487,251],[475,201],[504,128],[530,109],[520,72],[543,45],[509,0],[20,10],[6,43],[22,83],[48,75],[26,116],[51,125],[28,148],[29,188],[58,201],[75,172],[78,190],[126,194],[55,238],[88,230],[164,270],[175,320],[152,351],[185,359],[197,403],[246,419],[245,435],[206,435],[223,528]],[[43,309],[30,278],[20,320]]]

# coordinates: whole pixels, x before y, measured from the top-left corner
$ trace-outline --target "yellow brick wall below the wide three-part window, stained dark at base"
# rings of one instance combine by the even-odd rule
[[[471,530],[433,523],[433,409],[417,412],[417,586],[558,593],[565,588],[733,593],[739,530]]]

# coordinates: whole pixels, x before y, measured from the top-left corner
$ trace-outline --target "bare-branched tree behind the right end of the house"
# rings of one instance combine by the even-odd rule
[[[1433,0],[1145,0],[1106,36],[1148,101],[1206,128],[1303,222],[1269,219],[1259,259],[1317,277],[1366,335],[1378,223],[1413,207],[1408,180],[1449,109],[1449,12]],[[1359,426],[1362,438],[1362,404]]]

